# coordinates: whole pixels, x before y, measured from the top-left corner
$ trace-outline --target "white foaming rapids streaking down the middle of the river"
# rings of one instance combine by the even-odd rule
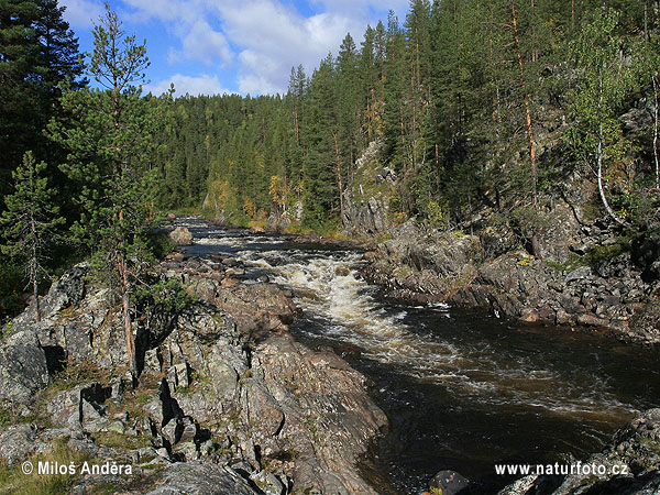
[[[405,309],[386,310],[358,275],[360,256],[355,253],[314,254],[309,251],[242,250],[252,242],[276,244],[274,238],[200,239],[200,244],[239,249],[238,256],[246,266],[265,270],[275,283],[296,294],[296,305],[304,311],[327,320],[326,333],[361,349],[364,356],[405,370],[425,383],[435,383],[452,393],[476,396],[492,405],[526,404],[558,415],[586,417],[623,417],[634,413],[608,392],[596,376],[588,383],[575,383],[584,376],[565,376],[551,369],[536,369],[525,359],[506,362],[497,351],[483,343],[481,348],[460,348],[440,341],[430,332],[413,329],[404,320]],[[436,304],[431,308],[441,318],[450,318],[450,308]],[[418,330],[418,331],[414,331]],[[536,364],[538,366],[538,363]]]

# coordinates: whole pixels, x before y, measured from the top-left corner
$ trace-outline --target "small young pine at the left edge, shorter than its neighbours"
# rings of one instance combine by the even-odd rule
[[[0,217],[4,254],[26,260],[25,275],[34,297],[34,319],[41,321],[38,283],[47,276],[46,252],[57,228],[64,223],[59,208],[54,204],[56,190],[48,187],[43,176],[45,162],[35,163],[32,152],[23,156],[23,165],[16,168],[13,194],[4,198],[7,210]]]

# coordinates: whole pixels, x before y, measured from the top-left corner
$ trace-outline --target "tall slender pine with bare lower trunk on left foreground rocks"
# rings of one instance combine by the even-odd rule
[[[94,251],[95,265],[119,287],[129,367],[138,377],[131,294],[148,262],[145,229],[153,221],[152,134],[162,120],[160,102],[142,98],[146,48],[125,36],[109,4],[94,29],[87,74],[103,90],[68,90],[64,110],[76,120],[52,122],[53,139],[72,153],[63,165],[82,185],[85,213],[73,228]]]

